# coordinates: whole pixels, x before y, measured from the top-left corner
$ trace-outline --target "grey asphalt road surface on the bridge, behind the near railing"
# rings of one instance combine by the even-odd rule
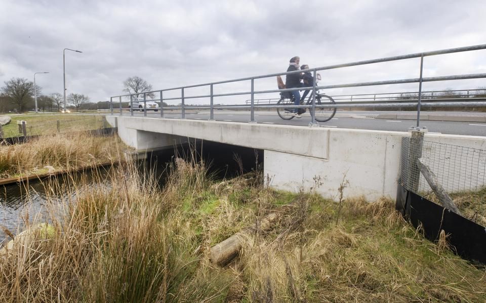
[[[390,113],[389,111],[337,111],[334,118],[328,122],[318,122],[320,127],[331,128],[351,128],[351,129],[373,129],[377,131],[396,131],[407,132],[411,126],[416,126],[416,120],[399,119],[375,119],[374,116],[380,113]],[[393,112],[397,113],[397,112]],[[412,114],[413,112],[406,112]],[[424,112],[425,113],[425,112]],[[116,113],[115,113],[116,114]],[[124,113],[128,115],[129,112]],[[454,112],[447,112],[453,115]],[[467,113],[457,112],[458,115]],[[143,113],[134,112],[134,116],[142,116]],[[148,117],[160,117],[160,112],[147,112]],[[165,113],[165,118],[180,119],[180,113]],[[186,113],[186,119],[208,120],[209,111],[201,111],[197,114]],[[216,110],[215,120],[225,122],[248,122],[250,111],[225,111]],[[302,118],[292,120],[282,120],[276,112],[260,111],[255,112],[255,120],[264,124],[286,124],[308,126],[310,115],[305,113]],[[426,126],[430,133],[486,136],[486,123],[481,122],[455,122],[455,121],[421,121],[420,126]]]

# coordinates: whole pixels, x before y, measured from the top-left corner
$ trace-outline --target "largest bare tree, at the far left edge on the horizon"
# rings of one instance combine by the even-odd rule
[[[7,99],[19,107],[20,112],[25,110],[27,102],[32,100],[34,95],[34,83],[25,78],[12,78],[5,81],[2,92]],[[41,88],[36,86],[37,94],[41,93]]]

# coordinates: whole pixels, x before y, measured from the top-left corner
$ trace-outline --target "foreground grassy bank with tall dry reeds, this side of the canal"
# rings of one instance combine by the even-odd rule
[[[48,205],[61,213],[54,232],[20,237],[0,256],[4,301],[486,300],[486,271],[425,240],[387,199],[335,203],[244,178],[218,182],[204,164],[177,159],[163,188],[120,165],[111,186],[81,182],[74,200]],[[275,209],[279,222],[260,232]],[[257,228],[240,256],[211,265],[209,248],[247,226]]]

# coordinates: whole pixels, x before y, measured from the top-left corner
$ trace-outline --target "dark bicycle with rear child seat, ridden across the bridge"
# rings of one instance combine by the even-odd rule
[[[279,83],[279,89],[281,89],[281,84],[283,83],[277,79],[277,83]],[[284,87],[285,89],[285,87]],[[289,105],[294,106],[294,95],[290,92],[281,92],[280,93],[280,100],[277,102],[277,105]],[[303,102],[305,105],[312,105],[312,92],[310,92],[307,101],[304,100]],[[336,107],[322,107],[318,108],[318,105],[327,105],[327,104],[336,104],[333,98],[326,94],[319,94],[319,91],[315,94],[315,120],[319,122],[326,122],[331,120],[334,115],[336,114]],[[301,102],[301,105],[302,102]],[[305,113],[306,109],[302,109]],[[301,114],[302,114],[301,113]],[[309,108],[309,113],[312,115],[312,108]],[[294,115],[294,108],[277,108],[277,114],[280,118],[284,120],[291,120],[295,117]]]

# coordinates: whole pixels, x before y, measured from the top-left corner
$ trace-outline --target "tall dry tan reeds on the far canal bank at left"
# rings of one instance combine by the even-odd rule
[[[68,169],[106,162],[118,162],[117,137],[83,133],[58,134],[33,139],[25,144],[0,146],[0,178],[47,172],[45,166]]]

